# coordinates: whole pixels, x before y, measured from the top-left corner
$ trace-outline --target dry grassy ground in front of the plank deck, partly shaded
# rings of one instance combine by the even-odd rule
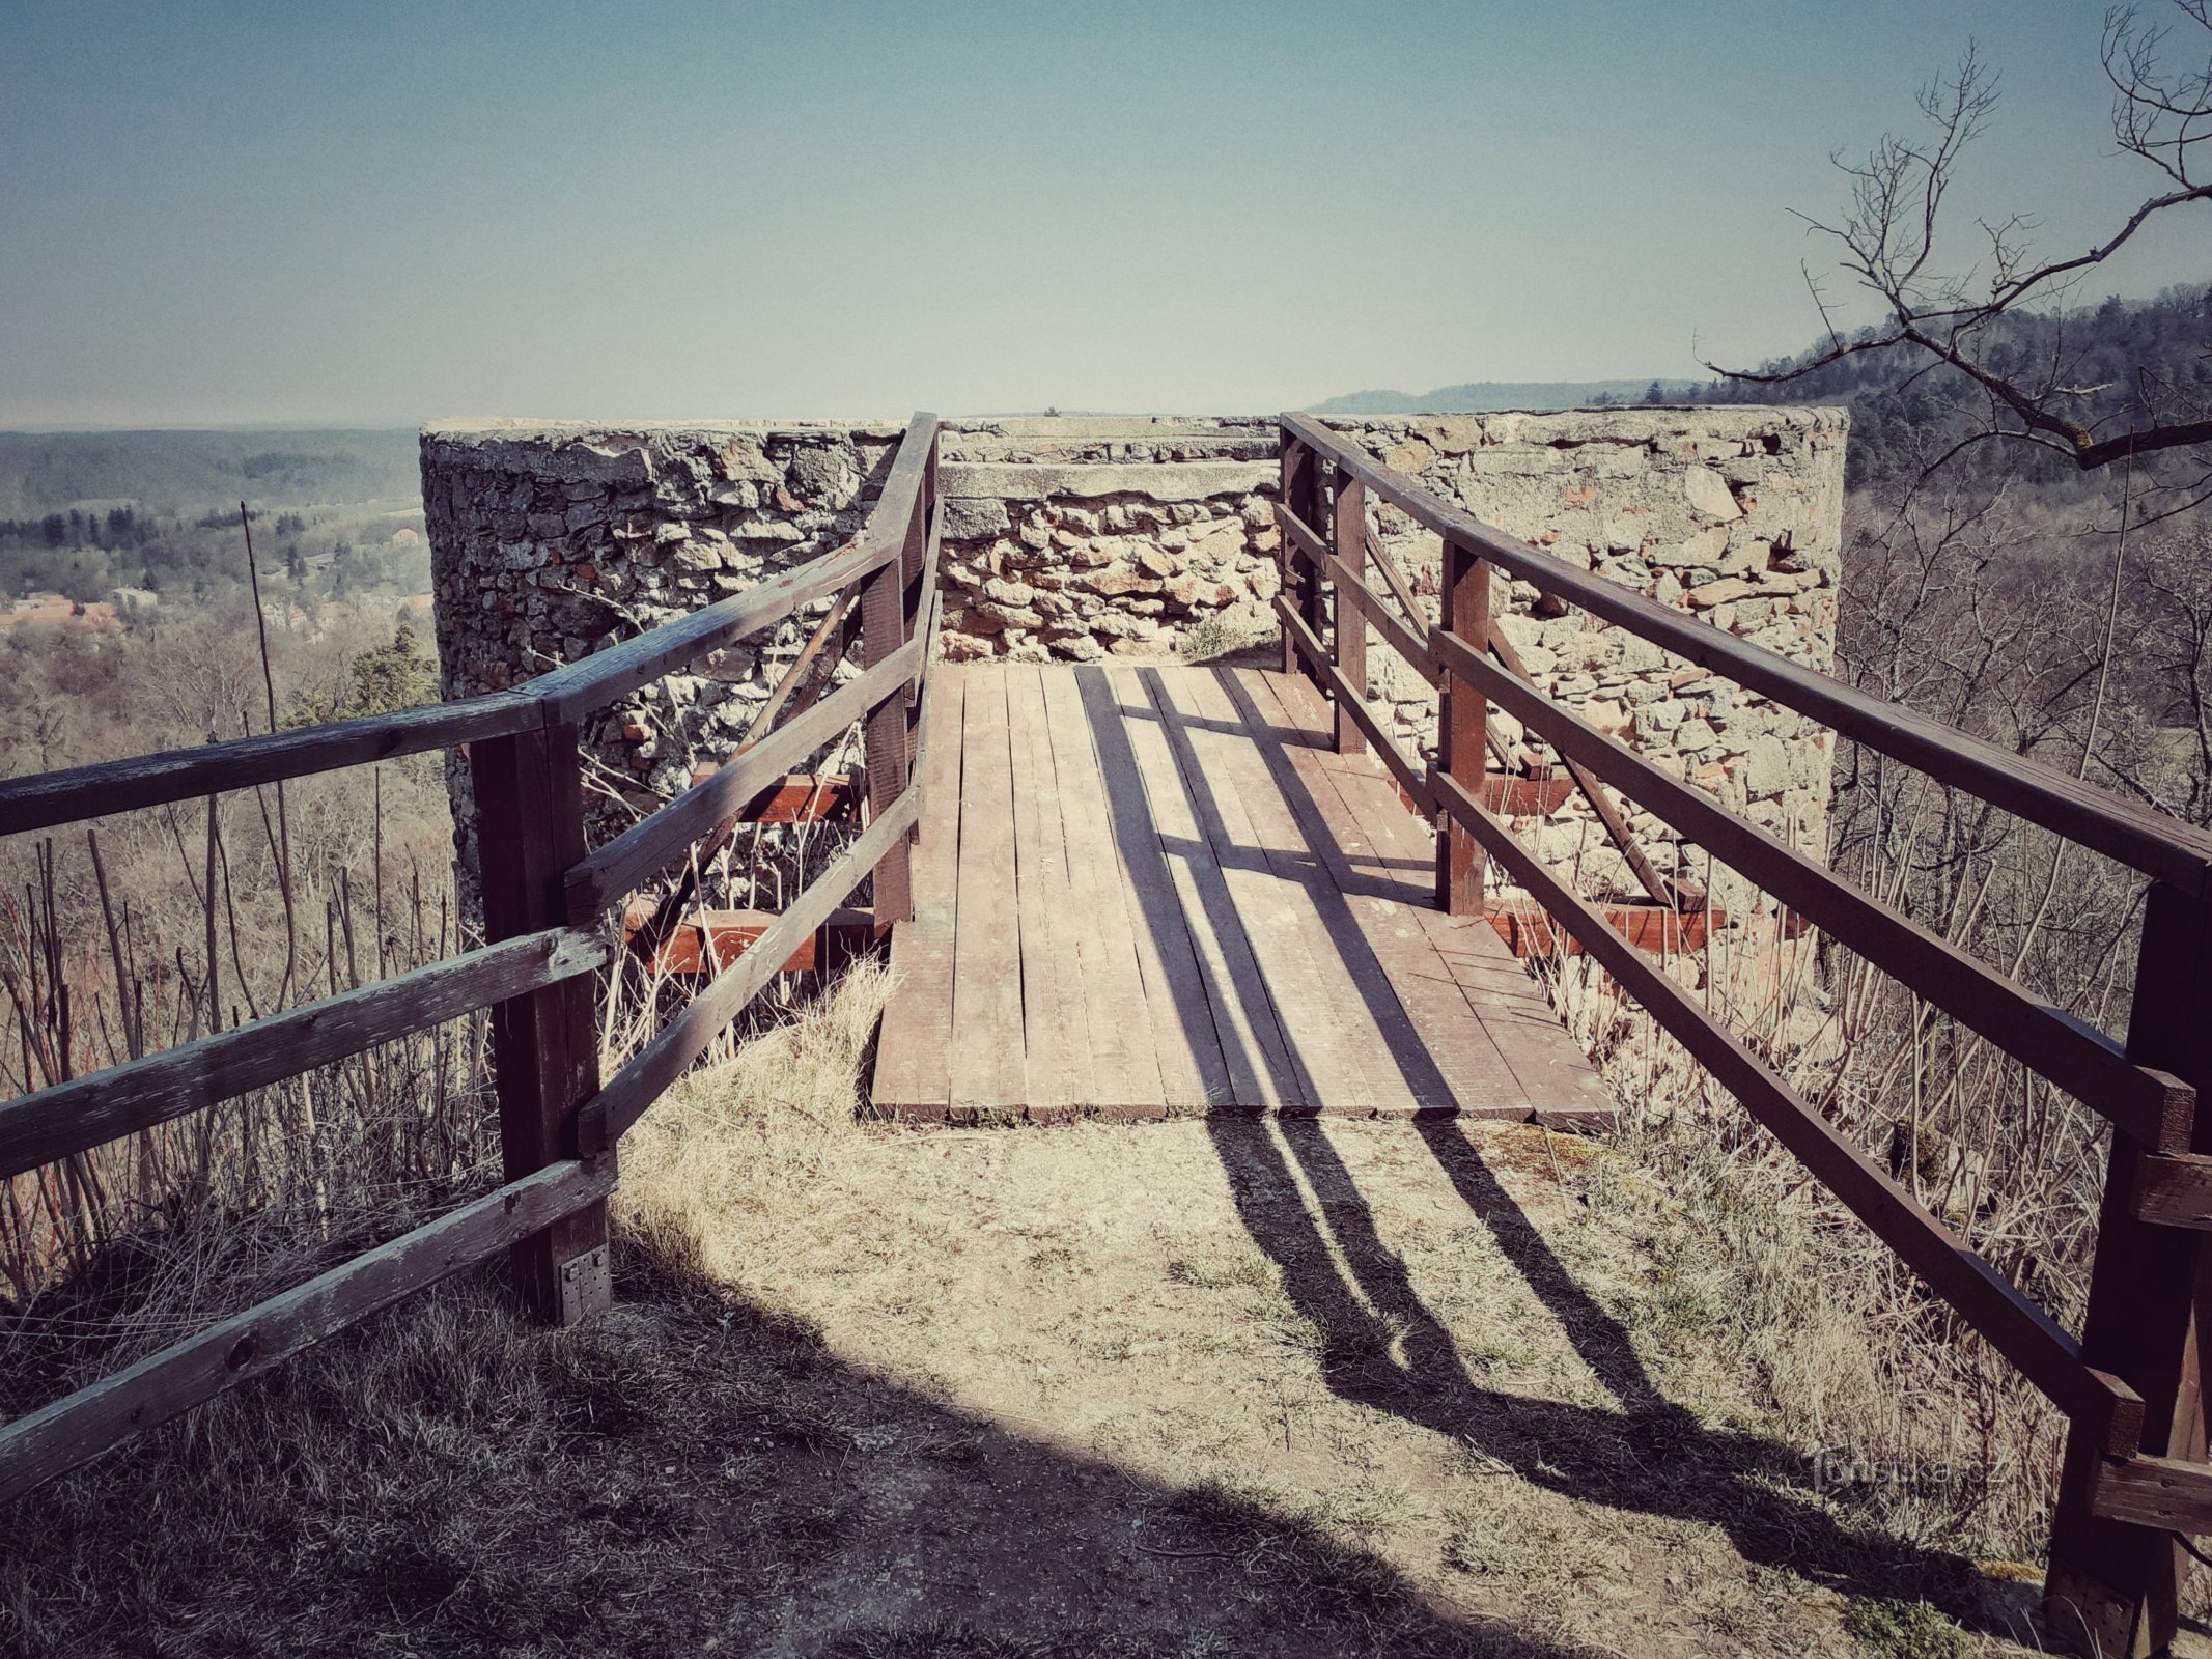
[[[2033,1644],[2033,1584],[1816,1491],[1734,1279],[1617,1152],[1455,1124],[856,1128],[863,1020],[779,1044],[626,1141],[615,1314],[533,1332],[469,1281],[13,1506],[0,1639]]]

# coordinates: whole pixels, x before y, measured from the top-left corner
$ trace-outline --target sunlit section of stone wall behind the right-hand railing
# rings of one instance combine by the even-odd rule
[[[1843,409],[1686,407],[1559,414],[1409,416],[1332,422],[1378,460],[1555,557],[1728,628],[1807,668],[1836,655],[1843,560]],[[1413,577],[1436,619],[1442,549],[1391,507],[1371,507],[1378,540]],[[1814,721],[1670,657],[1531,584],[1493,588],[1498,628],[1535,681],[1599,730],[1719,794],[1734,812],[1823,856],[1834,759]],[[1374,639],[1374,635],[1369,635]],[[1429,748],[1436,692],[1374,644],[1369,692],[1391,706],[1409,743]],[[1491,710],[1493,730],[1531,770],[1548,752]],[[1657,818],[1630,830],[1666,874],[1677,845]],[[1584,891],[1635,898],[1628,860],[1579,794],[1544,821],[1517,825],[1533,849],[1575,865]],[[1705,885],[1703,863],[1679,872]],[[1770,909],[1732,872],[1712,872],[1732,914]]]

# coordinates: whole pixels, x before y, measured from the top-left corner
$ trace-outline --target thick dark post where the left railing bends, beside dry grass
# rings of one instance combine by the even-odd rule
[[[568,920],[562,876],[584,856],[575,726],[476,743],[469,776],[484,938],[560,927]],[[491,1009],[500,1159],[509,1181],[575,1157],[575,1113],[599,1093],[595,987],[593,975],[577,975]],[[522,1239],[513,1274],[524,1307],[551,1325],[575,1325],[608,1307],[606,1203]]]

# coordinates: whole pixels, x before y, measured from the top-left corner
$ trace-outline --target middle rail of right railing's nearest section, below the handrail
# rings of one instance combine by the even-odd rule
[[[1451,635],[1438,635],[1438,648],[1453,672],[1544,737],[1559,754],[1624,790],[1829,938],[1893,973],[1916,995],[2104,1113],[2143,1146],[2168,1152],[2188,1148],[2197,1091],[2185,1082],[2132,1064],[2101,1031],[2026,995],[1995,969],[1867,898],[1825,865],[1739,818],[1697,785],[1683,783],[1626,743],[1586,726],[1504,668],[1482,661]]]

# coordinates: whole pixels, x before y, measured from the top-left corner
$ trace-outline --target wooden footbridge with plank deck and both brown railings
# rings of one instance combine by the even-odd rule
[[[1310,416],[1283,416],[1279,670],[936,661],[936,422],[916,416],[865,531],[838,553],[515,690],[0,783],[0,834],[465,748],[487,942],[0,1104],[0,1177],[491,1011],[504,1183],[281,1296],[0,1429],[0,1502],[438,1279],[511,1252],[549,1321],[604,1307],[622,1133],[863,883],[898,991],[874,1097],[922,1117],[1073,1110],[1604,1110],[1533,984],[1484,925],[1495,863],[1960,1321],[2068,1418],[2053,1626],[2106,1655],[2177,1628],[2185,1533],[2212,1528],[2197,1329],[2212,1285],[2212,836],[1790,664],[1480,524]],[[1444,546],[1442,615],[1367,538],[1369,495]],[[1491,571],[1772,697],[2148,878],[2135,1006],[2115,1040],[2044,1006],[1714,796],[1597,732],[1491,635]],[[577,723],[710,650],[834,602],[770,695],[781,723],[602,847]],[[858,635],[863,670],[812,672]],[[1442,695],[1433,765],[1365,701],[1369,639]],[[1898,978],[2110,1126],[2088,1312],[2059,1327],[1635,949],[1493,805],[1491,703],[1551,743],[1637,863],[1608,790]],[[865,732],[867,821],[681,1013],[599,1075],[595,975],[664,885],[785,774]],[[1411,803],[1411,812],[1407,810]],[[1418,814],[1418,816],[1416,816]],[[1436,825],[1431,832],[1422,818]],[[1694,902],[1639,867],[1670,902]],[[672,891],[670,891],[672,887]]]

